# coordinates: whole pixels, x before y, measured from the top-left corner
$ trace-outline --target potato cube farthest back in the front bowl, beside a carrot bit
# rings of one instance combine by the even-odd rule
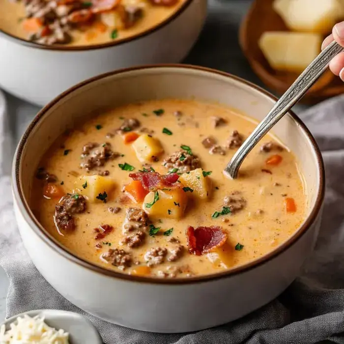
[[[137,158],[141,162],[152,161],[154,160],[154,157],[158,157],[164,152],[160,141],[148,134],[141,135],[134,141],[132,146]]]

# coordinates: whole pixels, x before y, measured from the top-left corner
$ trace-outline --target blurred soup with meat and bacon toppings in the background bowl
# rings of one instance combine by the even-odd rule
[[[0,0],[0,29],[41,44],[101,44],[156,26],[184,1]]]

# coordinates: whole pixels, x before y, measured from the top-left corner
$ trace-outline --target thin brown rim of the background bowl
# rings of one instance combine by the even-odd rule
[[[23,44],[25,46],[28,46],[29,48],[35,48],[35,49],[43,49],[43,50],[53,50],[53,51],[63,51],[63,52],[69,52],[69,51],[88,51],[88,50],[96,50],[101,48],[109,48],[114,47],[116,45],[124,44],[130,41],[134,41],[136,39],[139,39],[141,37],[147,36],[150,33],[153,33],[157,31],[158,29],[162,29],[169,23],[171,23],[174,19],[176,19],[180,14],[182,14],[191,4],[193,0],[185,0],[185,2],[168,18],[166,18],[161,23],[154,25],[153,27],[146,29],[142,32],[137,33],[136,35],[129,36],[126,38],[122,38],[119,40],[111,41],[108,43],[102,43],[102,44],[94,44],[94,45],[80,45],[80,46],[64,46],[64,45],[47,45],[47,44],[39,44],[30,42],[26,39],[16,37],[12,35],[11,33],[5,32],[0,29],[0,36],[3,35],[5,38],[9,38],[13,40],[14,42]]]

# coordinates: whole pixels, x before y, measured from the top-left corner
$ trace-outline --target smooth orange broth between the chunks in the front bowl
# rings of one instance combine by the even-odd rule
[[[164,114],[157,116],[154,110],[163,109]],[[173,115],[180,111],[182,115]],[[143,115],[146,114],[146,115]],[[228,123],[214,128],[211,116],[221,116]],[[120,119],[121,118],[121,119]],[[123,118],[137,118],[141,122],[140,128],[154,130],[153,137],[159,139],[164,148],[163,155],[158,162],[150,165],[155,171],[166,174],[167,170],[162,166],[164,158],[170,156],[179,149],[181,144],[188,145],[201,159],[203,171],[212,171],[207,176],[211,181],[208,200],[197,200],[188,192],[188,205],[184,216],[179,220],[162,218],[154,221],[155,227],[161,227],[155,236],[146,235],[143,246],[128,249],[125,245],[119,245],[122,238],[122,224],[126,216],[126,208],[141,207],[142,204],[133,202],[124,203],[122,200],[122,187],[131,181],[129,171],[122,171],[118,164],[125,162],[135,167],[134,172],[142,170],[142,163],[137,159],[131,144],[124,144],[121,135],[116,134],[112,138],[106,138],[106,134],[118,128]],[[168,241],[174,237],[180,240],[184,246],[183,255],[174,262],[165,261],[151,267],[151,275],[161,275],[163,271],[169,271],[173,267],[181,267],[176,276],[192,276],[200,274],[212,274],[225,269],[231,269],[238,265],[266,255],[286,241],[300,226],[305,216],[305,190],[303,178],[298,169],[294,155],[286,148],[278,152],[283,160],[278,166],[267,166],[266,159],[276,152],[260,152],[263,143],[275,140],[267,135],[261,144],[249,154],[245,160],[239,178],[230,180],[222,173],[235,149],[227,149],[226,155],[209,154],[201,141],[212,135],[220,144],[225,143],[230,133],[237,130],[246,138],[256,126],[256,122],[240,115],[235,111],[216,104],[203,103],[191,100],[154,100],[140,104],[131,104],[116,108],[105,114],[91,118],[81,124],[68,135],[60,137],[48,150],[41,161],[40,166],[46,171],[54,173],[64,193],[85,192],[78,177],[73,175],[85,175],[79,165],[82,161],[80,154],[82,147],[88,142],[109,142],[115,151],[124,156],[119,156],[97,171],[109,170],[109,177],[115,179],[115,192],[109,195],[107,203],[87,202],[87,212],[76,216],[77,226],[74,231],[61,231],[60,235],[54,224],[53,216],[58,200],[48,200],[42,196],[46,182],[35,179],[31,198],[31,208],[42,226],[49,231],[62,245],[77,256],[91,261],[97,265],[120,271],[116,266],[100,259],[102,253],[109,248],[122,248],[133,255],[134,260],[140,265],[133,265],[124,270],[125,273],[136,273],[138,266],[145,265],[143,256],[147,250],[153,247],[171,248]],[[97,129],[101,125],[101,129]],[[172,131],[172,135],[162,133],[163,128]],[[140,128],[136,130],[140,133]],[[141,133],[140,133],[141,134]],[[67,155],[64,150],[70,149]],[[262,172],[268,169],[272,174]],[[73,172],[74,171],[74,172]],[[72,172],[72,173],[71,173]],[[93,174],[91,171],[89,174]],[[63,185],[60,183],[63,181]],[[247,201],[246,206],[228,215],[220,215],[212,218],[215,211],[221,211],[224,198],[233,191],[240,191]],[[287,213],[284,200],[293,198],[296,203],[296,211]],[[158,201],[159,202],[159,201]],[[108,207],[118,206],[121,210],[117,214],[110,213]],[[95,240],[94,228],[99,225],[109,224],[114,227],[113,232],[102,240]],[[188,226],[221,226],[227,233],[228,239],[224,246],[214,252],[195,256],[188,252],[186,229]],[[171,236],[163,235],[167,229],[173,228]],[[102,248],[95,245],[100,242]],[[105,244],[103,244],[103,243]],[[111,247],[109,246],[111,243]],[[236,250],[237,244],[243,245],[241,250]],[[140,269],[139,269],[140,271]],[[140,272],[139,272],[140,273]],[[143,271],[143,273],[147,273]],[[173,275],[174,276],[174,275]]]

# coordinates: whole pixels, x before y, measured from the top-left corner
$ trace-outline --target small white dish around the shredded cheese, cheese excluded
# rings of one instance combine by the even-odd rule
[[[31,317],[39,315],[44,316],[44,322],[57,330],[62,329],[69,333],[69,342],[72,344],[102,344],[98,331],[95,327],[82,315],[73,312],[59,310],[34,310],[24,312],[16,316],[12,316],[4,321],[1,325],[5,325],[9,330],[9,325],[15,322],[18,316],[29,315]]]

